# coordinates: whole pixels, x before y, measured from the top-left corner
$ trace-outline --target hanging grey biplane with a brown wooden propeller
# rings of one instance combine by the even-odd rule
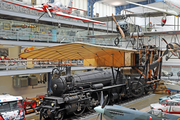
[[[149,22],[149,25],[146,26],[146,29],[142,31],[142,27],[138,25],[134,25],[133,27],[129,25],[126,22],[127,17],[157,17],[162,16],[162,12],[149,12],[149,13],[138,13],[138,14],[125,14],[125,15],[113,15],[112,16],[106,16],[106,17],[99,17],[99,18],[93,18],[94,20],[99,20],[102,22],[105,21],[114,21],[117,25],[117,33],[111,33],[111,34],[104,34],[104,35],[87,35],[88,38],[115,38],[114,43],[117,46],[120,42],[119,37],[122,37],[123,39],[128,39],[128,41],[133,44],[135,42],[135,38],[137,37],[152,37],[156,35],[177,35],[180,34],[180,31],[161,31],[161,32],[151,32],[149,30],[152,30],[152,23]],[[171,15],[171,14],[167,14]],[[123,22],[117,22],[117,20],[124,20]],[[133,38],[133,39],[131,39]]]

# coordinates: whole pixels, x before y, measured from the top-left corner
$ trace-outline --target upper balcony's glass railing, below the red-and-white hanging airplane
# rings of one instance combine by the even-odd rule
[[[29,42],[46,42],[46,43],[73,43],[84,42],[96,45],[114,46],[115,38],[95,39],[87,38],[85,36],[70,36],[68,34],[42,34],[38,32],[23,32],[12,30],[0,30],[0,39],[3,40],[16,40],[16,41],[29,41]],[[119,44],[121,46],[121,44]]]

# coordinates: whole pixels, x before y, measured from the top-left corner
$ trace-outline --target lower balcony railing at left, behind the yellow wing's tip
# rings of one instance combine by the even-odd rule
[[[25,70],[54,68],[60,65],[82,66],[83,60],[59,61],[59,60],[0,60],[0,71],[2,70]]]

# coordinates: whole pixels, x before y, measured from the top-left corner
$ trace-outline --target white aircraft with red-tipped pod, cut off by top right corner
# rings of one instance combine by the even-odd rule
[[[180,15],[180,2],[179,0],[164,0],[164,2],[168,5],[168,7],[170,9],[160,9],[160,8],[156,8],[156,7],[152,7],[152,6],[148,6],[148,5],[142,5],[142,4],[138,4],[138,3],[134,3],[134,2],[130,2],[130,1],[126,1],[127,3],[130,3],[130,4],[134,4],[134,5],[138,5],[138,6],[141,6],[141,7],[144,7],[144,8],[148,8],[148,9],[151,9],[151,10],[155,10],[155,11],[158,11],[158,12],[162,12],[164,13],[163,15],[163,18],[161,20],[161,26],[164,26],[166,24],[166,21],[167,21],[167,14],[169,15],[174,15],[176,17],[178,17]]]

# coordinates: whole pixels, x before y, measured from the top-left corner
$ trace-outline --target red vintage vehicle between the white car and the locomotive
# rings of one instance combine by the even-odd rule
[[[26,114],[39,111],[40,101],[43,100],[45,95],[37,95],[34,98],[26,98],[24,100],[24,109]]]

